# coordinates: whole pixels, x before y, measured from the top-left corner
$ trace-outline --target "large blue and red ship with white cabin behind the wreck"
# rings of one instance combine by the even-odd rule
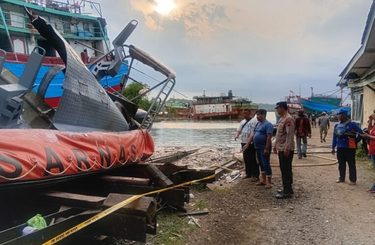
[[[38,93],[42,80],[53,73],[49,89],[42,97],[52,108],[56,108],[63,93],[61,87],[65,76],[62,70],[65,65],[56,49],[30,24],[23,6],[26,6],[32,14],[47,19],[79,54],[79,58],[86,66],[90,66],[111,48],[106,22],[101,15],[101,6],[100,3],[91,0],[80,0],[73,4],[58,0],[2,0],[0,2],[0,48],[6,52],[4,67],[15,75],[21,76],[31,50],[36,46],[43,48],[46,54],[35,78],[33,90]],[[85,10],[94,13],[84,14]],[[41,49],[37,52],[41,52]],[[106,57],[108,61],[112,58]],[[55,67],[56,65],[59,66]],[[55,69],[51,70],[52,67]],[[102,77],[100,84],[104,88],[111,87],[120,91],[121,78],[127,71],[127,63],[121,64],[119,73],[113,77]]]

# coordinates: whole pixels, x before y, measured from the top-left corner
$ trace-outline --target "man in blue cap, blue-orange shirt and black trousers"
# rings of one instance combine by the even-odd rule
[[[338,123],[335,124],[333,129],[332,138],[332,154],[335,154],[335,147],[337,146],[337,161],[339,162],[339,174],[340,177],[336,180],[336,183],[345,181],[345,174],[347,163],[349,165],[349,185],[355,185],[357,181],[357,170],[355,167],[355,149],[357,143],[361,140],[361,136],[357,134],[363,134],[362,129],[349,120],[348,110],[341,108],[337,113]]]

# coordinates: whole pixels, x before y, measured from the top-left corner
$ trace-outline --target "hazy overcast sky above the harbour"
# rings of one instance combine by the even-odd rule
[[[219,93],[275,103],[290,90],[337,89],[338,74],[360,47],[371,0],[99,0],[111,40],[132,19],[127,40],[177,73],[192,98]],[[153,85],[152,82],[149,82]],[[182,96],[173,93],[176,98]]]

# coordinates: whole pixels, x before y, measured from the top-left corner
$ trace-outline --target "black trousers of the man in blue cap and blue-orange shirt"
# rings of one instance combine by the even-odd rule
[[[337,161],[339,162],[340,180],[345,181],[347,163],[349,165],[349,180],[357,182],[357,169],[355,167],[355,149],[337,148]]]

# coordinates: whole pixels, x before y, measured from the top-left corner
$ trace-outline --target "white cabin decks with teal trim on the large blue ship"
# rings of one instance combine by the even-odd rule
[[[33,15],[46,19],[81,55],[85,64],[110,50],[106,22],[101,17],[100,4],[90,0],[2,0],[0,3],[0,49],[6,60],[25,62],[35,46],[46,50],[51,65],[60,64],[55,49],[33,28],[24,6]],[[92,12],[91,15],[85,12]],[[94,16],[96,15],[96,16]],[[42,50],[38,50],[42,52]],[[47,58],[48,60],[49,58]],[[45,61],[46,62],[46,59]]]

